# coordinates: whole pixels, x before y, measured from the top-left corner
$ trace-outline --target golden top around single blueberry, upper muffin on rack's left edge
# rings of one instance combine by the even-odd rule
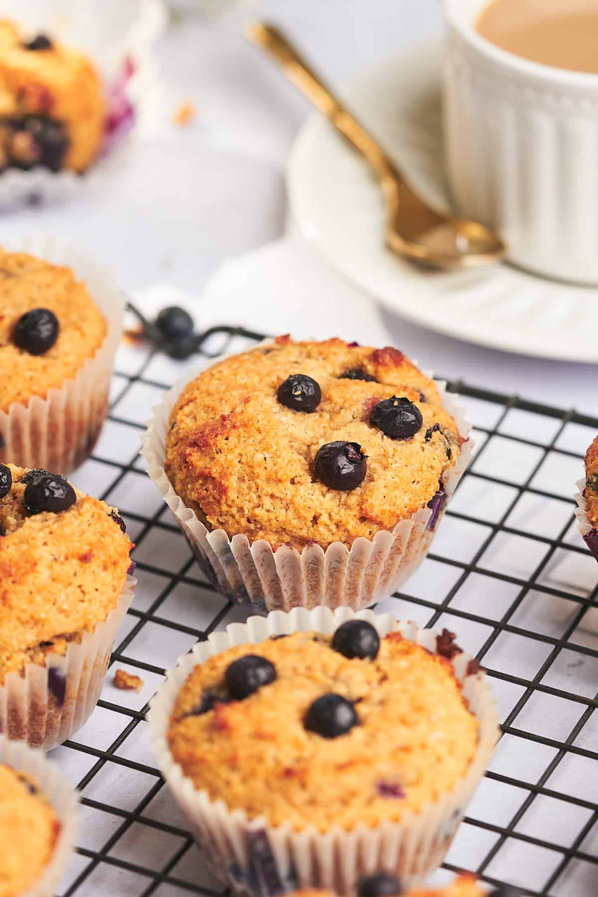
[[[47,352],[33,355],[15,344],[14,329],[22,315],[39,308],[56,315],[59,330]],[[0,249],[0,411],[60,388],[97,352],[106,333],[100,309],[70,268]]]

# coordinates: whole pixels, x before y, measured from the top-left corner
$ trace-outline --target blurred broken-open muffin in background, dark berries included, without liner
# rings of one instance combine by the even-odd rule
[[[0,20],[0,170],[88,169],[100,150],[106,115],[90,59]]]

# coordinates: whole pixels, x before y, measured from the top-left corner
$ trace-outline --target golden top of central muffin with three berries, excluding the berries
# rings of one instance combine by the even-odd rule
[[[321,389],[310,414],[277,397],[295,374]],[[370,422],[377,403],[394,396],[421,415],[407,439]],[[329,488],[316,475],[318,449],[336,440],[358,444],[367,456],[356,488]],[[166,471],[186,505],[229,536],[265,539],[273,548],[351,546],[425,508],[462,442],[434,382],[398,350],[279,337],[186,386],[170,415]]]

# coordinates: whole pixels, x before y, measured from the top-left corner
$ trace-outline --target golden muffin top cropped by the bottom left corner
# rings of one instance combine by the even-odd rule
[[[0,764],[0,897],[30,893],[52,858],[60,829],[37,780]]]

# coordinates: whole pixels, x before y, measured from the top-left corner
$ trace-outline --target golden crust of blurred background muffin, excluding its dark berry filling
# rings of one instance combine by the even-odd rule
[[[104,134],[100,77],[77,50],[54,40],[48,49],[30,50],[22,38],[13,22],[0,20],[0,122],[34,115],[62,123],[68,137],[62,165],[84,171]]]

